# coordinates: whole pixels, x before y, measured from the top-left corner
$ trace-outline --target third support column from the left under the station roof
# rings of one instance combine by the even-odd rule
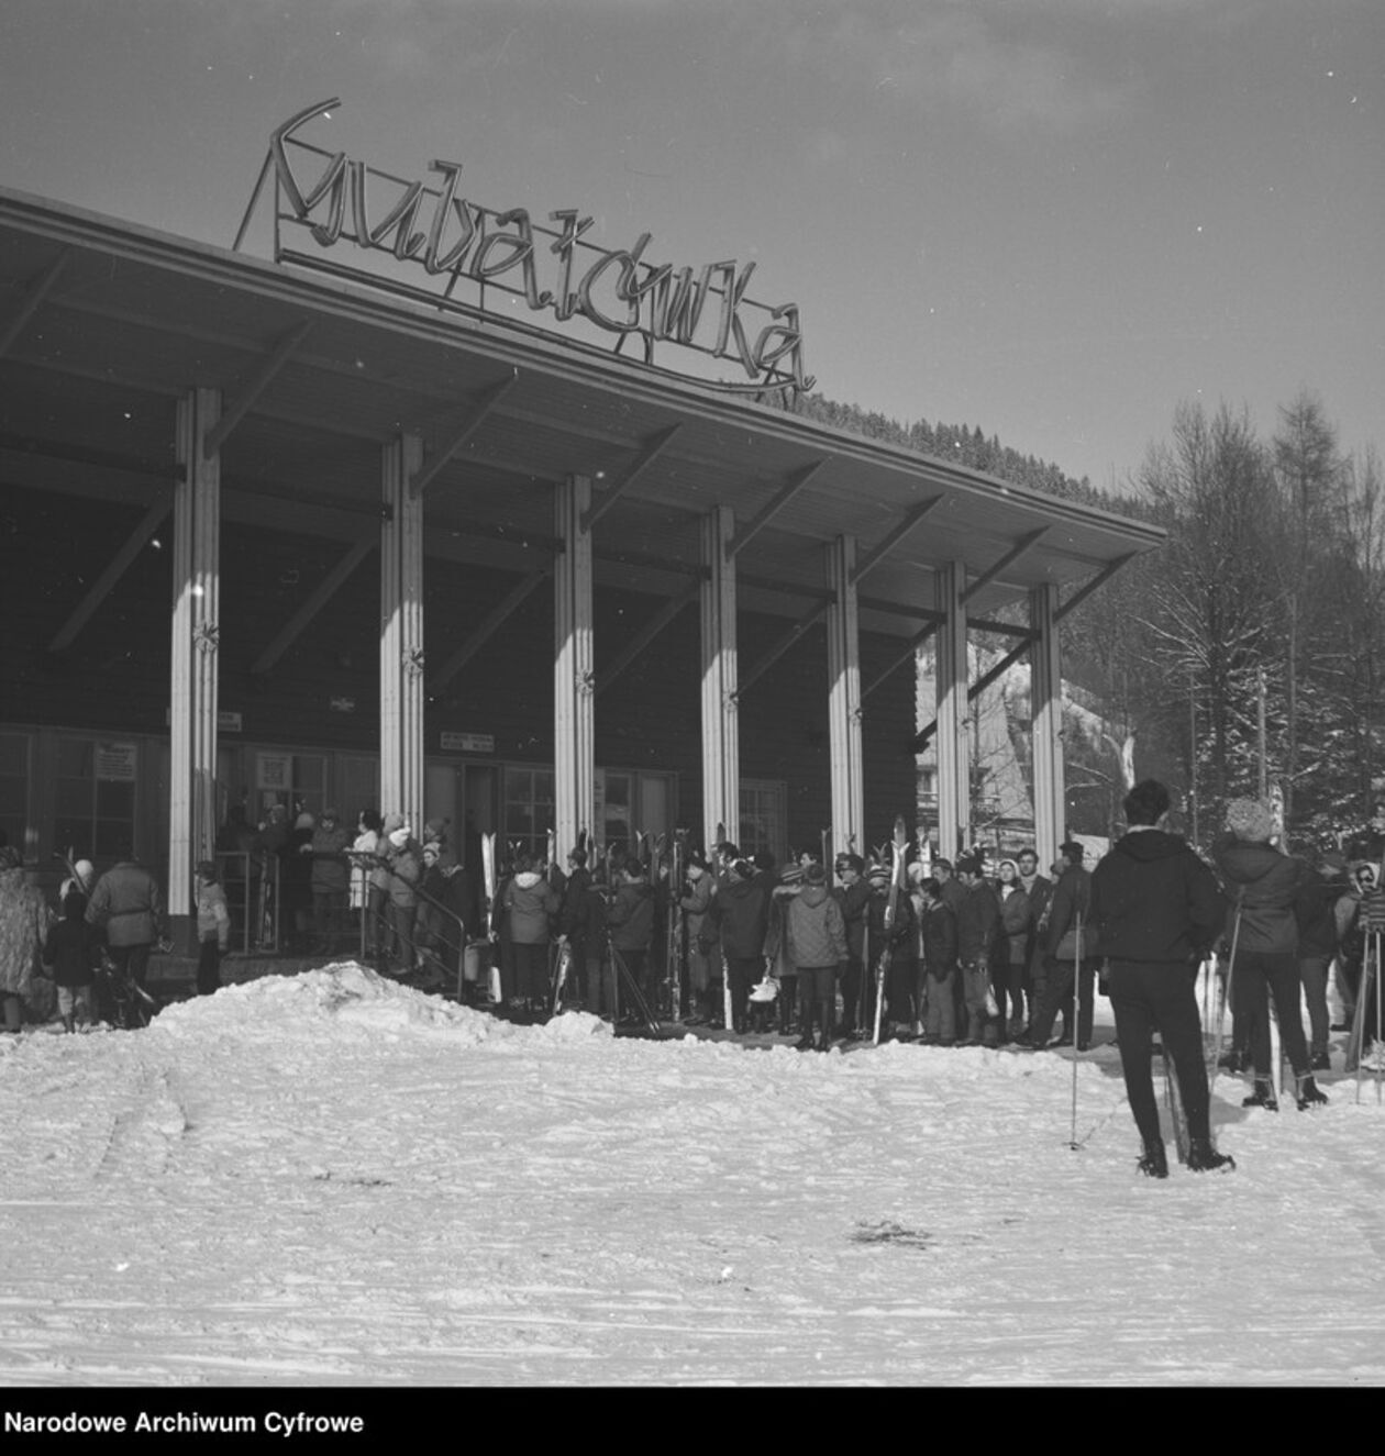
[[[553,558],[553,828],[559,858],[577,843],[580,830],[597,831],[590,510],[591,480],[568,476],[553,495],[553,529],[564,543]]]

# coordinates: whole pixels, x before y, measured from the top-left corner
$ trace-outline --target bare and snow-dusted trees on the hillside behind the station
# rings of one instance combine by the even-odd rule
[[[1289,840],[1338,843],[1370,818],[1385,778],[1385,494],[1373,444],[1347,450],[1322,400],[1279,409],[1270,438],[1247,409],[1183,403],[1133,472],[1098,491],[979,427],[804,396],[798,414],[999,479],[1164,527],[1167,545],[1063,622],[1063,677],[1133,735],[1140,776],[1183,795],[1207,840],[1229,798],[1283,794]],[[1108,833],[1114,751],[1070,744],[1075,831]]]

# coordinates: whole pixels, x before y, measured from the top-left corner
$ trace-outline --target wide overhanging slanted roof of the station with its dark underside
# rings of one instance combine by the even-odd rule
[[[0,189],[0,472],[154,504],[194,386],[224,392],[229,518],[357,540],[379,517],[379,447],[417,432],[430,555],[543,565],[552,485],[588,475],[599,584],[676,597],[701,569],[699,518],[730,505],[743,607],[811,613],[823,543],[851,533],[861,626],[901,638],[948,562],[986,620],[1162,540],[555,333]]]

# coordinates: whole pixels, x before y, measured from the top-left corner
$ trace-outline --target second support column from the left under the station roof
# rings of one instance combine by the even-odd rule
[[[380,451],[380,812],[424,820],[424,502],[409,488],[422,440]]]

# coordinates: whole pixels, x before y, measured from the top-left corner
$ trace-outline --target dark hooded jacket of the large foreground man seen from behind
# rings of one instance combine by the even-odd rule
[[[1089,914],[1111,960],[1193,962],[1220,935],[1226,901],[1185,839],[1149,828],[1117,840],[1097,865]]]

